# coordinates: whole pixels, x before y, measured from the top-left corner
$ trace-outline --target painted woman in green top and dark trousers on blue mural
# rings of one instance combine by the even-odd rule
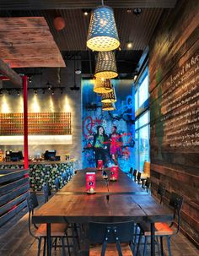
[[[103,126],[97,127],[97,133],[94,134],[94,154],[96,166],[98,165],[98,160],[102,160],[104,166],[107,165],[108,158],[108,136],[105,134],[105,129]]]

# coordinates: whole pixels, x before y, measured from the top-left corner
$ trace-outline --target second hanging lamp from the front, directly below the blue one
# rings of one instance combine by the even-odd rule
[[[114,52],[98,52],[94,76],[97,79],[113,79],[118,76]]]

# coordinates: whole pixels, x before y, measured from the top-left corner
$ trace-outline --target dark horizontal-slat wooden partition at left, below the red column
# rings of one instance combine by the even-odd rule
[[[30,194],[28,170],[0,170],[0,226],[26,207]]]

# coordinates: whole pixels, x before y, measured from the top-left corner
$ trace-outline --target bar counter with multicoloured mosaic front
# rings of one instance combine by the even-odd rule
[[[45,182],[55,189],[55,178],[58,177],[61,187],[73,176],[74,160],[71,161],[29,161],[30,188],[40,191]],[[23,161],[0,162],[0,169],[24,169]]]

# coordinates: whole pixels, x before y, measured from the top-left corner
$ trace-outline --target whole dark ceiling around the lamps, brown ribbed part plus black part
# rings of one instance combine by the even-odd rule
[[[86,47],[90,14],[84,16],[83,9],[94,8],[100,5],[100,2],[1,0],[0,17],[45,17],[66,63],[68,59],[81,59],[83,74],[93,74],[96,53]],[[127,77],[134,74],[164,8],[174,8],[175,3],[175,0],[105,1],[105,4],[114,8],[121,41],[121,51],[116,51],[119,74],[126,74]],[[134,8],[137,7],[142,8],[142,14],[133,13]],[[63,30],[56,30],[53,25],[53,19],[57,16],[62,16],[65,20],[66,26]],[[126,48],[127,41],[132,41],[130,50]]]

